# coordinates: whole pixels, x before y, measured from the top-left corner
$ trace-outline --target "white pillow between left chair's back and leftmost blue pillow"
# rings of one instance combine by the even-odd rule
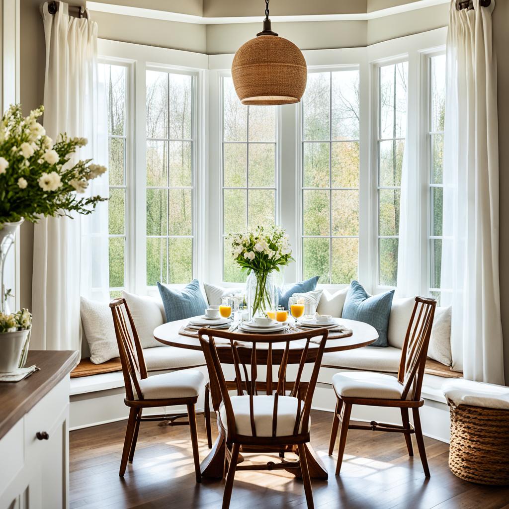
[[[122,292],[122,296],[131,312],[142,348],[160,347],[161,343],[154,338],[154,329],[166,323],[161,298],[134,295],[128,292]]]

